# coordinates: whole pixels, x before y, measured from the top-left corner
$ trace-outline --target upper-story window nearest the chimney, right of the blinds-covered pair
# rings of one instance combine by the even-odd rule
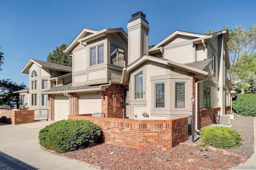
[[[124,67],[124,49],[116,46],[110,45],[110,64]]]

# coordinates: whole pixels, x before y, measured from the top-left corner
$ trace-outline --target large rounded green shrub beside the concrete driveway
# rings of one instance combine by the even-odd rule
[[[41,129],[39,143],[62,153],[88,147],[99,136],[100,128],[91,121],[62,120]]]

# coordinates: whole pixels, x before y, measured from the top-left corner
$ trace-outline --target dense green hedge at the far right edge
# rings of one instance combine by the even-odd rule
[[[232,101],[232,109],[236,114],[256,117],[256,95],[237,94]]]

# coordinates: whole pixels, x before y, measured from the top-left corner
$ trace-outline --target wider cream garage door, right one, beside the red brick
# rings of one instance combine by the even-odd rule
[[[78,96],[78,111],[79,114],[101,112],[101,95]]]

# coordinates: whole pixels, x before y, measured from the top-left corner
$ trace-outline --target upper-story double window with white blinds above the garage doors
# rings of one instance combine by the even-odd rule
[[[104,44],[90,48],[90,66],[104,63]]]

